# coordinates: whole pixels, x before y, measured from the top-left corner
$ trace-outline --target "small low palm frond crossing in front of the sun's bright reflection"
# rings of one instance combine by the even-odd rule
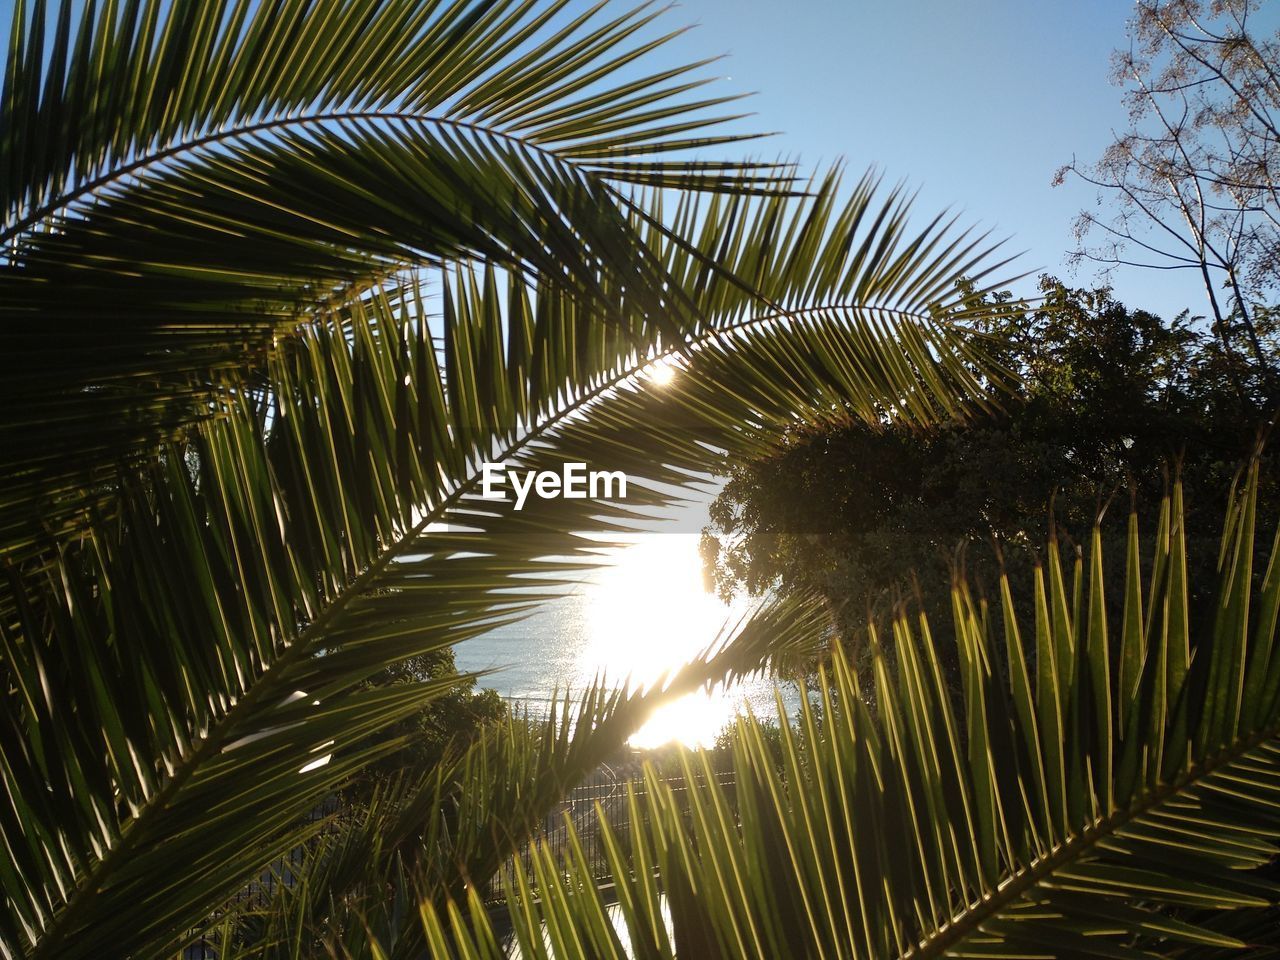
[[[652,713],[699,687],[732,682],[780,657],[809,655],[829,641],[818,598],[771,599],[724,625],[690,663],[660,682],[628,690],[598,678],[553,699],[543,719],[516,716],[430,771],[407,771],[366,810],[316,845],[275,887],[274,901],[246,911],[223,940],[227,955],[307,950],[360,952],[379,931],[390,956],[426,950],[416,910],[403,904],[484,897],[566,794],[614,756]],[[388,899],[387,891],[399,891]]]

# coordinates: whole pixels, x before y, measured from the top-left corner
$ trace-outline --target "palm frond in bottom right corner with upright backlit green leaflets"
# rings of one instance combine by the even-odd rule
[[[893,623],[892,655],[873,631],[872,676],[836,658],[780,758],[745,718],[731,787],[705,754],[686,754],[680,796],[652,780],[650,819],[612,840],[620,927],[585,863],[535,854],[538,900],[508,911],[521,956],[1274,950],[1280,540],[1256,576],[1257,470],[1212,611],[1188,608],[1180,486],[1146,584],[1130,518],[1123,598],[1103,595],[1097,530],[1070,576],[1051,541],[1030,628],[1007,581],[998,614],[960,584],[959,690],[923,618]],[[436,956],[503,956],[479,901],[422,911]]]

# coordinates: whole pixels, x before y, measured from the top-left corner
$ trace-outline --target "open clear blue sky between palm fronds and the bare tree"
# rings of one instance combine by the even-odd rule
[[[659,54],[727,54],[714,84],[758,91],[746,101],[771,154],[808,166],[844,157],[851,174],[881,168],[920,188],[918,211],[1011,236],[1027,270],[1085,285],[1064,262],[1071,220],[1094,198],[1079,182],[1052,187],[1073,154],[1092,161],[1125,125],[1108,83],[1126,45],[1125,0],[685,0],[664,23],[696,29]],[[1203,312],[1189,273],[1126,269],[1112,276],[1130,306]],[[1030,287],[1027,287],[1027,292]],[[1020,291],[1021,292],[1021,291]]]

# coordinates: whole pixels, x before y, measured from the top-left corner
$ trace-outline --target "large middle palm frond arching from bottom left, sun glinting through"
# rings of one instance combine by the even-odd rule
[[[508,275],[503,296],[480,273],[445,288],[438,351],[420,291],[380,289],[129,479],[119,517],[38,589],[15,585],[0,623],[22,694],[3,716],[8,948],[177,942],[378,751],[316,756],[436,692],[357,684],[553,594],[602,548],[566,531],[625,529],[800,413],[927,419],[954,389],[980,394],[965,301],[943,291],[986,247],[940,223],[909,232],[901,197],[869,182],[844,206],[833,192],[687,205],[696,241],[646,234],[658,262],[687,260],[676,275],[707,311],[682,340],[588,323],[553,284],[530,298]],[[654,351],[689,375],[646,387]],[[654,431],[663,416],[681,430]],[[570,454],[634,471],[628,500],[479,495],[483,461]]]

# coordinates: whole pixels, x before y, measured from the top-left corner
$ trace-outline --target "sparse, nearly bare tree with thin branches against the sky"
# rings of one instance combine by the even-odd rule
[[[1130,129],[1075,175],[1115,201],[1114,216],[1085,210],[1076,257],[1193,270],[1224,349],[1234,328],[1275,398],[1274,357],[1256,314],[1280,284],[1280,32],[1262,33],[1258,0],[1139,0],[1130,46],[1114,58]],[[1091,236],[1101,243],[1088,246]],[[1240,388],[1243,389],[1243,388]]]

